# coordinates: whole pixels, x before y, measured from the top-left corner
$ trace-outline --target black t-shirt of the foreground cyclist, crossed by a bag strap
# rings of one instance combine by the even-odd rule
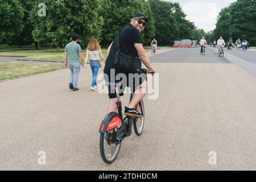
[[[118,34],[117,34],[118,35]],[[109,55],[106,59],[106,64],[104,68],[104,72],[110,72],[110,69],[114,69],[114,56],[115,52],[117,51],[117,41],[120,40],[120,49],[123,53],[127,55],[131,55],[133,57],[138,56],[138,52],[134,47],[135,43],[142,43],[141,42],[141,35],[137,28],[134,28],[130,23],[123,27],[120,35],[119,40],[117,40],[117,35],[113,40],[112,46],[109,51]]]

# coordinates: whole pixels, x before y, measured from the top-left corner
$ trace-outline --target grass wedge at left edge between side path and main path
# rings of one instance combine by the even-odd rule
[[[0,81],[61,69],[59,65],[0,63]]]

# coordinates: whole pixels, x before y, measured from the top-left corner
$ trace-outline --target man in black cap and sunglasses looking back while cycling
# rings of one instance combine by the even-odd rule
[[[147,82],[146,77],[140,77],[139,80],[129,80],[130,75],[135,75],[132,71],[126,70],[126,72],[121,71],[120,69],[115,67],[114,57],[115,53],[117,53],[118,43],[122,53],[126,55],[130,55],[134,58],[139,58],[142,63],[147,67],[147,73],[155,73],[155,69],[152,67],[148,56],[146,55],[146,51],[142,46],[141,35],[139,32],[144,30],[144,26],[147,23],[147,18],[144,14],[137,13],[131,18],[130,23],[127,24],[122,30],[115,36],[113,42],[110,44],[108,48],[108,57],[106,59],[106,64],[104,68],[104,78],[106,82],[119,82],[123,81],[120,78],[117,78],[118,73],[121,73],[126,76],[127,84],[122,86],[129,86],[133,89],[133,98],[130,101],[130,104],[125,107],[125,115],[127,116],[135,116],[138,118],[142,118],[143,116],[138,113],[137,110],[134,109],[135,105],[138,104],[139,101],[146,95],[147,90]],[[114,74],[112,74],[114,72]],[[138,75],[142,75],[141,71],[138,71]],[[122,82],[123,83],[123,82]],[[117,94],[113,90],[111,90],[109,86],[109,108],[108,113],[117,111]]]

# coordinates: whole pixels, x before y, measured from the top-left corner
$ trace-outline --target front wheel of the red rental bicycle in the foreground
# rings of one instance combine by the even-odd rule
[[[144,128],[144,118],[145,118],[144,104],[142,100],[139,101],[137,106],[135,106],[135,109],[143,115],[143,118],[135,118],[133,122],[134,132],[139,136],[142,134],[142,131]]]

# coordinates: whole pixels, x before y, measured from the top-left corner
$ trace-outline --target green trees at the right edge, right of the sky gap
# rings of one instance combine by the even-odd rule
[[[256,44],[256,1],[237,0],[221,10],[217,18],[214,37],[224,40],[246,39]]]

